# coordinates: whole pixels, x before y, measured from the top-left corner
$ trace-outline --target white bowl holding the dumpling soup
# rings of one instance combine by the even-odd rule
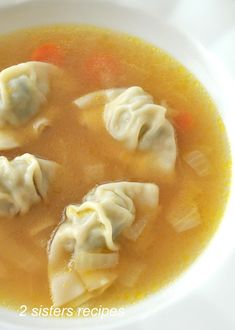
[[[8,0],[0,3],[0,30],[2,33],[53,23],[86,23],[108,27],[137,35],[166,50],[194,73],[212,96],[227,128],[234,159],[235,120],[232,113],[232,110],[235,109],[234,82],[222,65],[185,32],[129,7],[127,1],[125,4],[124,1],[121,1],[120,5],[118,5],[118,1],[99,0]],[[0,309],[0,328],[111,329],[116,326],[128,327],[131,322],[143,319],[152,313],[155,313],[157,317],[161,310],[167,308],[169,304],[179,301],[184,295],[195,290],[235,249],[233,205],[235,205],[234,178],[223,221],[201,256],[167,288],[127,307],[121,318],[43,319],[32,316],[20,317],[17,312],[2,308]]]

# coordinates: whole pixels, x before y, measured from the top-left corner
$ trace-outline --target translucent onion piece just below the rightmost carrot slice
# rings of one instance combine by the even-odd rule
[[[210,163],[201,151],[194,150],[186,154],[185,162],[197,173],[200,177],[205,177],[210,174]]]

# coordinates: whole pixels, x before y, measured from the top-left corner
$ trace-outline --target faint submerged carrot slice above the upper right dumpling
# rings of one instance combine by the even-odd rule
[[[120,71],[120,63],[111,54],[91,54],[84,63],[85,75],[93,82],[108,82],[114,79]]]

